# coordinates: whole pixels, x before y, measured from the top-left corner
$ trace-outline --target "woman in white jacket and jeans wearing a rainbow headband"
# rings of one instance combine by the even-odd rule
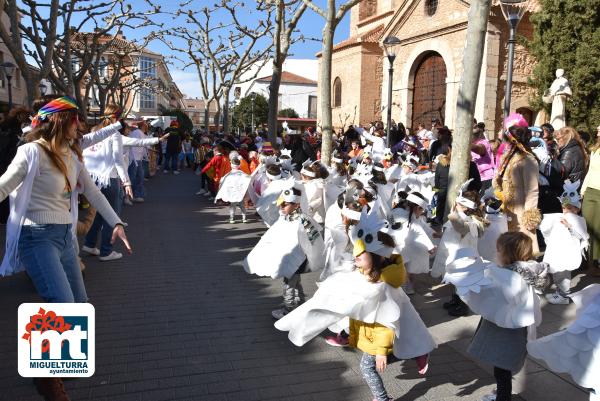
[[[0,177],[0,200],[10,194],[6,253],[0,275],[26,270],[45,302],[87,302],[85,285],[73,246],[78,193],[112,227],[129,251],[123,224],[83,164],[77,139],[77,105],[67,97],[42,107],[28,134],[29,143]],[[36,387],[46,399],[64,399],[59,378],[38,378]]]

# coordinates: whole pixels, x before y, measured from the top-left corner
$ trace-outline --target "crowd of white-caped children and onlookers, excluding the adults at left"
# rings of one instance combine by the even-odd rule
[[[589,353],[599,350],[600,321],[589,316],[599,312],[600,286],[572,294],[571,274],[587,266],[583,256],[589,274],[599,271],[599,146],[571,127],[530,127],[519,114],[500,139],[475,122],[469,180],[446,210],[452,131],[437,120],[395,130],[390,144],[382,123],[338,132],[329,165],[312,131],[287,130],[274,144],[266,135],[196,139],[197,194],[229,206],[230,223],[237,209],[248,221],[254,207],[267,227],[244,269],[282,280],[275,327],[298,346],[329,329],[328,344],[363,352],[374,400],[388,400],[387,364],[414,359],[425,374],[436,347],[410,300],[414,278],[431,274],[454,288],[449,315],[481,315],[468,352],[494,366],[497,388],[484,400],[511,399],[528,350],[594,397],[600,358]],[[307,272],[320,272],[310,299]],[[582,303],[573,330],[535,339],[540,296]],[[553,346],[565,336],[573,341]]]

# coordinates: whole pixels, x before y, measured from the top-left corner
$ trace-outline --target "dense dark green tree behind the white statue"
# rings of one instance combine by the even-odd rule
[[[530,84],[537,89],[532,105],[542,102],[558,68],[565,70],[573,97],[567,102],[567,123],[594,132],[600,124],[600,0],[541,0],[531,16],[533,39],[527,43],[538,61]]]

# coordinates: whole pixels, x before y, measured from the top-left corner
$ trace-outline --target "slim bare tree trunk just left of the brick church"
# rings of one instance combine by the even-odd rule
[[[323,28],[323,51],[321,53],[321,162],[329,165],[331,159],[331,141],[333,122],[331,113],[331,56],[333,53],[333,12],[329,9],[329,20]]]

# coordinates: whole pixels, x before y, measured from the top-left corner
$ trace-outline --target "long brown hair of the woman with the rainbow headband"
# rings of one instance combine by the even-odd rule
[[[78,118],[76,109],[50,114],[47,120],[42,121],[25,137],[27,142],[44,140],[44,143],[40,143],[40,146],[46,152],[52,164],[64,175],[69,191],[72,190],[72,187],[67,178],[69,177],[68,168],[62,159],[63,146],[67,145],[70,150],[75,152],[79,161],[83,162],[79,141],[72,141],[68,137],[69,126],[74,123],[74,118]]]

